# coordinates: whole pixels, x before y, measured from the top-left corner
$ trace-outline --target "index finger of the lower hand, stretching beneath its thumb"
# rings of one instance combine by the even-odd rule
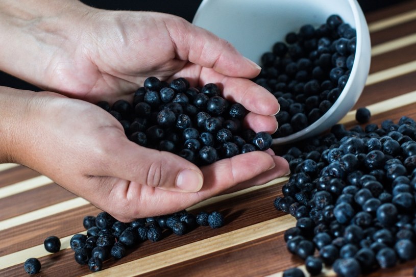
[[[112,189],[106,193],[107,196],[102,196],[105,197],[103,200],[95,203],[105,205],[108,212],[122,221],[169,214],[253,179],[275,166],[274,159],[266,153],[256,151],[241,154],[203,167],[205,181],[199,192],[168,191],[136,182],[119,181],[117,185],[107,184],[106,187]],[[106,179],[107,182],[111,180]]]

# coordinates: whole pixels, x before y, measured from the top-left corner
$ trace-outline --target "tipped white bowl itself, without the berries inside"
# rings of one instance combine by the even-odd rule
[[[261,55],[273,44],[284,41],[288,32],[298,32],[304,24],[316,27],[331,14],[338,14],[357,31],[357,45],[350,78],[333,106],[307,128],[287,137],[284,144],[318,135],[336,124],[355,105],[367,79],[370,34],[356,0],[203,0],[193,23],[231,42],[244,56],[260,64]]]

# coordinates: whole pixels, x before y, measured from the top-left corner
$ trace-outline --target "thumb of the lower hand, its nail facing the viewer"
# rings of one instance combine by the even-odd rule
[[[197,192],[202,188],[201,170],[191,162],[169,152],[139,146],[120,138],[108,165],[113,177],[150,187],[178,192]]]

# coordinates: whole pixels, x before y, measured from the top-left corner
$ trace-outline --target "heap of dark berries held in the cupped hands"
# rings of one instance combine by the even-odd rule
[[[246,109],[220,96],[213,83],[189,87],[178,78],[170,83],[149,77],[133,103],[97,103],[117,118],[131,141],[172,152],[198,166],[255,150],[266,150],[272,136],[242,127]]]

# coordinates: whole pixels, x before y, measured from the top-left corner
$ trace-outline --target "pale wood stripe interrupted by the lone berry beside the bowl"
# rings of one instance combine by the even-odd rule
[[[405,105],[416,103],[416,90],[396,96],[373,105],[366,106],[370,110],[371,115],[385,113],[390,110],[394,110]],[[355,113],[357,110],[350,111],[344,118],[338,123],[347,124],[355,121]]]

